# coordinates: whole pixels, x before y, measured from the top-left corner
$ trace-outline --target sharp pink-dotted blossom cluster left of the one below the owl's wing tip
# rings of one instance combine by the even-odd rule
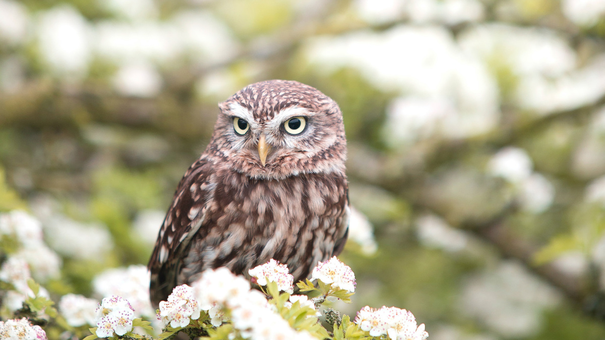
[[[125,335],[132,330],[132,320],[134,309],[128,301],[115,295],[104,298],[96,310],[96,334],[99,338]]]

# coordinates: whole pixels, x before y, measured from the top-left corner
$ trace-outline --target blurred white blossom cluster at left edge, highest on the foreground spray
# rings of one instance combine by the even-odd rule
[[[0,214],[0,238],[18,243],[19,250],[11,257],[27,261],[37,280],[59,275],[61,258],[44,243],[42,223],[35,217],[20,210]]]

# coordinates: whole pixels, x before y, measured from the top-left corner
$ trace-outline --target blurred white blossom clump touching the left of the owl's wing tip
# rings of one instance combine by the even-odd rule
[[[99,296],[117,295],[128,300],[137,318],[155,316],[149,302],[149,272],[143,265],[106,270],[94,278],[93,287]]]

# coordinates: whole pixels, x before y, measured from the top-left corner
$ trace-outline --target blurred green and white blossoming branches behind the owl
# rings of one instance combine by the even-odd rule
[[[41,221],[51,296],[147,263],[217,103],[266,79],[344,113],[338,309],[605,338],[603,0],[0,0],[0,211]]]

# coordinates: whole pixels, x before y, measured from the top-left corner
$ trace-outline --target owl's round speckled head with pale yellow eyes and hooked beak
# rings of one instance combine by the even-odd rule
[[[248,85],[218,106],[206,152],[221,165],[255,178],[344,175],[342,113],[334,100],[315,88],[267,80]]]

